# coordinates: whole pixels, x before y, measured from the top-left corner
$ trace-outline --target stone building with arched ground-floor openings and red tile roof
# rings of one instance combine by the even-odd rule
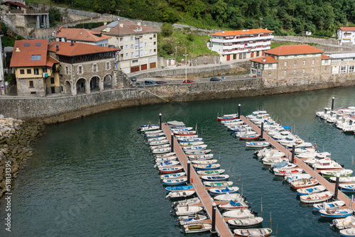
[[[49,55],[60,62],[61,92],[72,96],[124,88],[115,71],[118,52],[118,48],[74,41],[54,41],[48,45]]]

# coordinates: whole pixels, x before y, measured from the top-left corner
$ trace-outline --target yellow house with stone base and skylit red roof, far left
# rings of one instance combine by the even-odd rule
[[[48,40],[16,40],[10,67],[15,67],[18,96],[45,97],[62,91],[59,62],[48,56]]]

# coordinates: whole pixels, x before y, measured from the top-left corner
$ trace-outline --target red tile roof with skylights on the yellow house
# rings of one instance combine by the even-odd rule
[[[25,43],[28,46],[25,46]],[[47,63],[47,48],[48,40],[16,40],[10,67],[45,66]],[[32,55],[40,55],[38,56],[40,60],[31,60]]]

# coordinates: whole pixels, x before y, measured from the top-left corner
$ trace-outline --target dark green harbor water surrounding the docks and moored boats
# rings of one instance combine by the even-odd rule
[[[296,192],[253,158],[255,150],[231,136],[217,115],[264,109],[317,149],[354,170],[355,136],[315,116],[335,97],[335,108],[354,106],[355,87],[260,97],[192,101],[109,111],[54,124],[35,144],[35,155],[14,183],[11,232],[0,201],[0,236],[184,236],[137,128],[183,121],[195,128],[222,168],[229,170],[251,209],[273,228],[273,236],[340,236],[331,221],[300,204]],[[262,209],[261,209],[262,206]],[[210,236],[209,233],[192,236]]]

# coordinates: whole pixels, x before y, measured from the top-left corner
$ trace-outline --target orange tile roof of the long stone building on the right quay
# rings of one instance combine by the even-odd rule
[[[323,51],[310,45],[281,45],[277,48],[266,50],[265,53],[269,55],[305,55],[323,53]]]

